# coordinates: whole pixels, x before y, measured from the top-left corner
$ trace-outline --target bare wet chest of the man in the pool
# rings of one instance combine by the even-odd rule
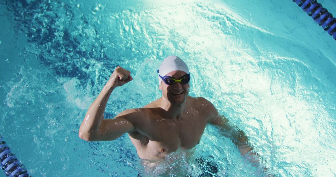
[[[135,128],[128,132],[140,158],[149,160],[164,159],[167,154],[178,149],[190,150],[201,140],[204,128],[208,123],[206,111],[198,112],[206,107],[203,98],[187,97],[185,110],[181,116],[169,116],[166,110],[158,108],[160,99],[146,105],[144,112],[148,117],[131,120]],[[203,106],[202,106],[203,104]]]

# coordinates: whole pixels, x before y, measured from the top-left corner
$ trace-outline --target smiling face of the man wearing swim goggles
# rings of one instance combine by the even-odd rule
[[[166,75],[179,79],[185,74],[186,73],[184,71],[172,71]],[[162,96],[164,98],[166,98],[170,103],[177,105],[181,105],[189,93],[189,83],[182,84],[181,82],[175,82],[172,85],[168,85],[164,81],[161,81],[159,88],[162,90]]]

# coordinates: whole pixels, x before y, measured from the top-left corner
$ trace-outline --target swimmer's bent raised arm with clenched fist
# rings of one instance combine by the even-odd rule
[[[117,86],[132,80],[131,73],[118,66],[103,87],[98,97],[89,107],[79,128],[79,137],[87,141],[114,140],[126,132],[134,130],[133,124],[126,118],[132,117],[135,110],[126,110],[116,119],[103,119],[106,104]]]

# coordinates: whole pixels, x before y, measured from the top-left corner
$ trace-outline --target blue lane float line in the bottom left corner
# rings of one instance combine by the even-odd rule
[[[30,177],[23,164],[10,151],[6,142],[0,136],[0,166],[10,177]]]

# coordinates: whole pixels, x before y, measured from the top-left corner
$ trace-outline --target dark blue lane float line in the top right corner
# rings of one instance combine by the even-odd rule
[[[322,26],[324,31],[327,31],[336,40],[336,18],[333,18],[333,15],[323,8],[317,0],[293,0],[293,2],[296,2],[317,24]]]

